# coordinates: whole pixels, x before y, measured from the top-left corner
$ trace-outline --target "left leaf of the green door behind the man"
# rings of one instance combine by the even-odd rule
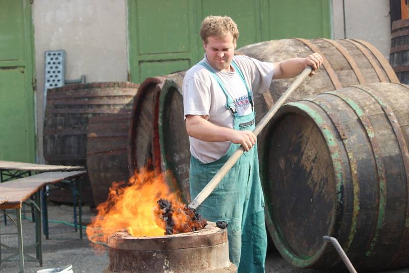
[[[189,69],[196,55],[193,1],[128,2],[130,73],[133,82]]]

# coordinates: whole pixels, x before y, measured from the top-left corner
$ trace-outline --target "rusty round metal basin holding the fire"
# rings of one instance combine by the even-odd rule
[[[108,239],[108,272],[236,272],[226,229],[208,222],[200,231],[160,237],[116,233]]]

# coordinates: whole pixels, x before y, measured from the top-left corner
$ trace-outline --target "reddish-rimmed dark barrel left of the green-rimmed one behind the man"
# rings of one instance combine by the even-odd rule
[[[165,79],[165,76],[147,78],[133,101],[128,140],[130,175],[147,165],[160,168],[160,155],[154,154],[153,145],[158,145],[157,110]]]

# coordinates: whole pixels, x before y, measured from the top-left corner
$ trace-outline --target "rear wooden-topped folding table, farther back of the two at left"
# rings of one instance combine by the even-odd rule
[[[22,178],[30,176],[34,173],[42,172],[54,172],[54,171],[79,171],[84,170],[82,166],[64,166],[64,165],[46,165],[46,164],[34,164],[25,162],[14,162],[14,161],[0,161],[0,183],[10,181],[16,178]],[[75,186],[75,184],[73,184]],[[81,186],[80,184],[78,185]],[[77,200],[75,187],[73,187],[73,210],[74,210],[74,226],[75,231],[77,231]],[[81,194],[81,190],[77,191]],[[48,229],[48,210],[47,210],[47,190],[46,186],[43,187],[41,194],[41,204],[42,204],[42,224],[43,232],[46,235],[46,239],[49,239],[49,229]],[[79,204],[79,211],[81,214],[81,203]],[[81,215],[79,215],[81,217]],[[34,213],[33,213],[34,218]],[[4,216],[5,224],[7,224],[7,217]],[[80,238],[82,239],[82,233],[80,233]]]

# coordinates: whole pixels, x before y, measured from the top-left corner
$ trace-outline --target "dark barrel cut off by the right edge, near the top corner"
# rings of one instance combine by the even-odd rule
[[[392,23],[390,63],[401,83],[409,83],[409,19]]]

